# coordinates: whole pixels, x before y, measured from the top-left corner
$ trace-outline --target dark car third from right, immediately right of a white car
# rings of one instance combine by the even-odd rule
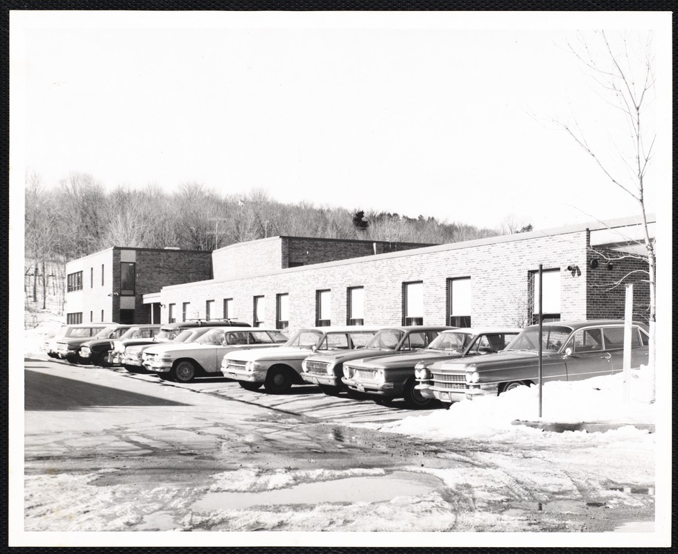
[[[351,352],[331,352],[309,356],[302,363],[302,377],[306,382],[317,384],[323,393],[338,395],[347,388],[347,384],[342,382],[346,362],[352,363],[356,359],[382,357],[398,352],[404,355],[411,353],[412,350],[421,350],[435,340],[438,333],[446,329],[451,328],[408,325],[381,329],[370,339],[365,348]],[[348,388],[358,390],[356,387]]]

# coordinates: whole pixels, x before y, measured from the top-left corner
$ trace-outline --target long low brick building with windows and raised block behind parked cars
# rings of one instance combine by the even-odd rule
[[[654,220],[653,220],[654,221]],[[652,227],[654,223],[652,223]],[[633,251],[634,219],[414,248],[412,244],[274,237],[214,252],[214,278],[144,297],[163,322],[229,317],[290,332],[308,325],[526,325],[622,318],[634,285],[634,318],[647,318],[647,263]],[[653,229],[652,229],[653,231]],[[359,257],[358,257],[359,256]]]

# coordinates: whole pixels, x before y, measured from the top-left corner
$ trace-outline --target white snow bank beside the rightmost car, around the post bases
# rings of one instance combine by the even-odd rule
[[[384,425],[382,431],[433,440],[480,438],[501,434],[534,432],[512,425],[514,420],[559,423],[606,422],[654,423],[649,372],[632,372],[630,402],[624,402],[623,373],[584,381],[553,381],[544,384],[542,417],[539,418],[539,387],[519,387],[499,396],[455,402],[449,410],[412,416]]]

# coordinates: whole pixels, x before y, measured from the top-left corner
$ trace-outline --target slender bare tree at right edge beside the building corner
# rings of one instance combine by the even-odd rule
[[[600,48],[602,55],[595,55],[594,44]],[[616,109],[628,133],[626,148],[616,148],[613,159],[604,157],[602,148],[589,145],[586,136],[575,123],[568,125],[557,122],[593,162],[607,176],[610,183],[625,195],[632,197],[638,204],[638,210],[643,220],[644,238],[640,242],[644,249],[644,258],[647,260],[647,280],[650,285],[650,356],[648,360],[652,379],[652,401],[654,402],[655,389],[655,359],[656,359],[656,281],[654,238],[650,238],[645,211],[645,175],[652,160],[652,148],[656,133],[650,130],[646,110],[652,102],[654,91],[654,72],[652,69],[654,55],[652,53],[652,33],[645,37],[631,37],[623,35],[620,44],[611,45],[604,31],[596,33],[594,41],[577,36],[577,42],[568,42],[570,51],[577,57],[598,87],[602,96]]]

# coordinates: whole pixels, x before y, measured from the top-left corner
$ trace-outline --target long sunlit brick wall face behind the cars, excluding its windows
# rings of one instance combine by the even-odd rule
[[[297,242],[300,246],[302,241]],[[288,293],[290,332],[315,325],[315,292],[331,289],[333,325],[345,325],[347,287],[365,287],[365,324],[399,325],[402,283],[424,283],[424,323],[446,323],[446,280],[471,277],[471,323],[514,325],[515,312],[524,310],[528,272],[561,270],[562,319],[586,319],[587,232],[558,235],[524,233],[496,240],[477,240],[406,253],[389,253],[354,260],[297,267],[274,274],[234,280],[214,280],[162,289],[162,303],[191,302],[204,316],[205,301],[214,300],[218,316],[223,298],[234,299],[234,316],[252,323],[254,296],[265,297],[266,325],[275,326],[275,295]],[[290,260],[293,259],[290,254]],[[580,272],[566,270],[577,265]],[[162,312],[167,321],[167,310]]]

